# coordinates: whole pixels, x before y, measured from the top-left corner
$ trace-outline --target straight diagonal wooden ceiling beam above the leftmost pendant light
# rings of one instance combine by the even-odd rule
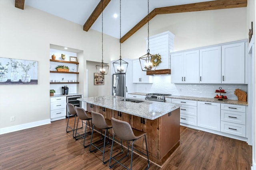
[[[92,24],[97,20],[97,18],[100,16],[101,12],[102,12],[102,1],[103,1],[103,10],[106,8],[106,6],[108,5],[108,3],[110,2],[110,0],[101,0],[98,5],[96,6],[96,8],[94,9],[94,11],[92,12],[92,14],[90,15],[90,17],[88,18],[88,20],[84,23],[84,31],[88,31],[90,29],[90,27],[92,26]]]

